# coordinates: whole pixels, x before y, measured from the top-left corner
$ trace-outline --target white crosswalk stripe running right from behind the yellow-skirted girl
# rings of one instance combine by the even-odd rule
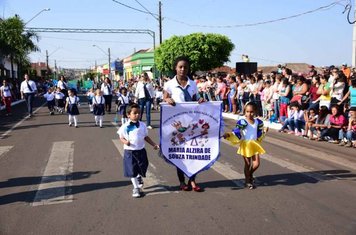
[[[227,140],[223,139],[222,142],[227,144],[227,145],[234,146]],[[283,145],[283,147],[284,146],[285,145]],[[295,149],[293,149],[293,150],[295,150]],[[262,160],[267,160],[269,162],[272,162],[272,163],[274,163],[274,164],[276,164],[278,166],[281,166],[283,168],[289,169],[291,171],[306,175],[306,176],[311,177],[311,178],[313,178],[313,179],[315,179],[317,181],[330,180],[330,177],[324,176],[324,175],[319,174],[319,173],[314,173],[313,170],[311,170],[311,169],[308,169],[308,168],[305,168],[303,166],[294,164],[292,162],[288,162],[288,161],[280,159],[280,158],[275,158],[275,157],[273,157],[272,155],[269,155],[269,154],[263,154],[261,156],[261,159]]]

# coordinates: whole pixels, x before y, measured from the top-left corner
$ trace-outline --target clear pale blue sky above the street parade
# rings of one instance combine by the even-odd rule
[[[242,54],[264,66],[284,63],[315,66],[351,64],[353,26],[343,14],[350,1],[161,0],[162,36],[166,40],[173,35],[196,32],[226,35],[235,45],[227,62],[229,66],[240,62]],[[0,15],[6,19],[17,14],[26,27],[34,28],[148,29],[155,31],[158,46],[158,20],[140,12],[146,8],[158,14],[158,2],[0,0]],[[314,11],[335,2],[338,4]],[[45,8],[50,10],[36,16]],[[312,13],[289,18],[309,11]],[[287,19],[256,25],[280,18]],[[354,20],[353,14],[351,20]],[[31,53],[32,62],[45,62],[48,51],[49,65],[54,66],[56,62],[57,66],[64,68],[90,68],[95,63],[107,63],[108,48],[112,59],[122,59],[153,46],[153,39],[148,34],[38,34],[40,52]]]

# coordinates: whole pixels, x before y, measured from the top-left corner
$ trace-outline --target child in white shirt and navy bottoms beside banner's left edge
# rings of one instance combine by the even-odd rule
[[[147,126],[140,122],[140,106],[132,104],[126,110],[128,122],[124,123],[118,130],[120,141],[124,144],[124,176],[131,178],[133,185],[132,197],[143,196],[142,177],[146,177],[148,168],[145,141],[153,146],[155,150],[159,146],[148,136]]]

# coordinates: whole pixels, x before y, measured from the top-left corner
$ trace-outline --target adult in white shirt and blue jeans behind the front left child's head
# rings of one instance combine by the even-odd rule
[[[152,129],[151,106],[154,98],[154,88],[146,72],[141,74],[141,80],[137,83],[135,97],[138,99],[138,104],[140,105],[140,121],[142,121],[143,112],[146,108],[147,128]]]

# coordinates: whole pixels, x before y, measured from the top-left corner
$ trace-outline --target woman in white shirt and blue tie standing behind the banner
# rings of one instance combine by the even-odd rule
[[[180,102],[194,102],[197,101],[198,88],[196,83],[188,77],[190,70],[190,61],[187,57],[180,56],[175,59],[173,63],[173,70],[176,76],[164,84],[163,100],[170,105],[175,105]],[[204,101],[203,98],[198,100],[199,103]],[[182,170],[177,167],[177,175],[180,182],[180,189],[183,191],[194,190],[195,192],[202,192],[195,183],[196,175],[189,178],[188,185],[185,184],[185,177]]]

